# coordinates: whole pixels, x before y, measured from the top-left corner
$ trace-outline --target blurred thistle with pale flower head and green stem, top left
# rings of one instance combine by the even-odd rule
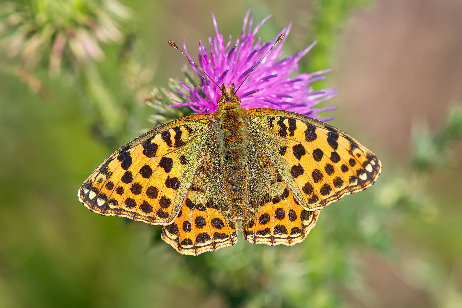
[[[51,78],[60,77],[63,87],[78,87],[95,136],[109,145],[119,143],[133,128],[131,117],[139,113],[136,109],[149,94],[144,87],[153,77],[136,39],[133,15],[116,0],[3,3],[1,71],[19,77],[44,100],[52,95],[45,70]]]

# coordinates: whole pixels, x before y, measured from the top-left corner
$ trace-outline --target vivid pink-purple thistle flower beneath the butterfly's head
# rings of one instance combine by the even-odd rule
[[[255,42],[257,31],[271,15],[263,19],[252,30],[254,17],[252,14],[246,32],[249,14],[250,10],[245,15],[241,37],[236,40],[234,45],[231,46],[231,36],[225,45],[223,35],[218,31],[217,21],[213,13],[212,18],[216,36],[213,39],[208,38],[209,50],[207,51],[202,42],[199,42],[198,65],[218,84],[225,83],[229,86],[234,83],[238,87],[273,45],[272,41],[261,42],[261,37],[258,37]],[[268,53],[266,58],[257,66],[236,95],[241,99],[243,108],[283,109],[328,121],[331,118],[322,118],[318,113],[335,110],[336,107],[313,107],[337,95],[339,91],[329,88],[315,92],[309,85],[317,80],[325,79],[326,77],[321,75],[332,71],[332,69],[316,71],[310,74],[302,73],[295,77],[290,77],[292,73],[298,70],[298,61],[310,51],[316,41],[293,56],[278,60],[283,53],[282,47],[291,25],[292,23],[276,36],[277,38],[282,33],[286,35],[278,46]],[[189,57],[184,39],[183,48]],[[214,112],[217,110],[218,98],[222,95],[220,89],[212,81],[209,81],[207,77],[204,77],[203,73],[192,62],[190,62],[190,65],[197,76],[201,78],[201,85],[191,87],[180,82],[182,89],[176,89],[176,91],[184,100],[183,102],[176,101],[178,104],[172,107],[188,106],[195,113]]]

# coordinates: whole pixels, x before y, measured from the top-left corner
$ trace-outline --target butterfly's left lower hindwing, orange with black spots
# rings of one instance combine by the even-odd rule
[[[226,196],[219,166],[219,151],[212,142],[182,204],[176,219],[162,229],[162,238],[182,255],[199,255],[205,251],[234,245],[236,226],[225,212]]]

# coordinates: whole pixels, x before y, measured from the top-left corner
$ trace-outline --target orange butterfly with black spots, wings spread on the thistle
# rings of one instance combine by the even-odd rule
[[[110,155],[79,201],[163,225],[165,242],[199,255],[234,245],[237,229],[254,244],[302,242],[323,207],[377,180],[380,160],[343,131],[290,111],[243,109],[234,83],[219,88],[214,113],[160,125]]]

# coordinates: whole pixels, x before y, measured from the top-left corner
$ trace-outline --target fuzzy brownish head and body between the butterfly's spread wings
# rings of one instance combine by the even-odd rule
[[[234,217],[241,217],[248,198],[249,129],[240,99],[233,95],[234,85],[219,99],[215,116],[217,139],[225,191]]]

